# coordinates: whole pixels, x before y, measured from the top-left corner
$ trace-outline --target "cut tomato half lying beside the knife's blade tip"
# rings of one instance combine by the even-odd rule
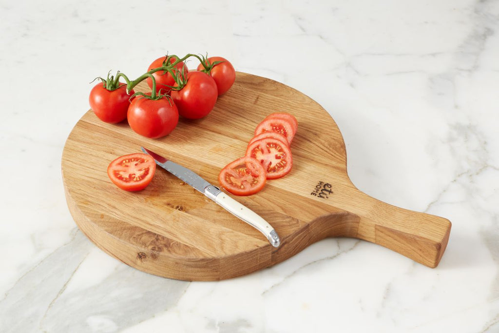
[[[143,190],[153,179],[155,171],[154,159],[142,153],[120,156],[107,167],[111,181],[125,191]]]

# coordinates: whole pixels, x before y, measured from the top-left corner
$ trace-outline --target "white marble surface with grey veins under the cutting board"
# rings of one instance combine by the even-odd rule
[[[499,332],[499,1],[0,2],[0,332]],[[364,192],[450,219],[436,269],[327,239],[183,282],[97,249],[60,158],[89,82],[222,55],[309,95]]]

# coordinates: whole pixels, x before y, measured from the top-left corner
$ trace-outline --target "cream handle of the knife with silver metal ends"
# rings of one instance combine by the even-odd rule
[[[251,227],[261,232],[273,247],[278,247],[280,245],[279,236],[275,232],[274,228],[272,228],[267,221],[250,210],[248,207],[240,204],[228,194],[222,192],[218,187],[213,185],[207,186],[205,189],[205,195],[239,219],[248,223]]]

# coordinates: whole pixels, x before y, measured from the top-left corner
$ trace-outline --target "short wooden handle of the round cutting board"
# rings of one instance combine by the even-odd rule
[[[366,240],[428,267],[437,267],[449,241],[448,219],[389,205],[356,188],[351,192],[349,198],[355,200],[342,207],[348,212],[341,218],[343,227],[331,229],[333,234],[328,236]]]

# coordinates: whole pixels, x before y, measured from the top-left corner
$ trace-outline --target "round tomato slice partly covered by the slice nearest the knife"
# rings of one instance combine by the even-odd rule
[[[264,138],[251,143],[246,156],[257,159],[267,172],[267,179],[280,178],[293,165],[293,158],[289,147],[280,140]]]

